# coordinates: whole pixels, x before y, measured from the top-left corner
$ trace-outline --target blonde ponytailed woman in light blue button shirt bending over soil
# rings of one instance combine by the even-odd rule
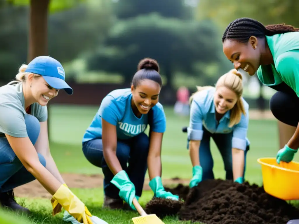
[[[215,87],[197,87],[190,97],[188,150],[193,177],[190,188],[205,179],[214,179],[210,138],[224,162],[226,179],[244,182],[249,141],[248,103],[242,98],[242,76],[236,69],[222,75]]]

